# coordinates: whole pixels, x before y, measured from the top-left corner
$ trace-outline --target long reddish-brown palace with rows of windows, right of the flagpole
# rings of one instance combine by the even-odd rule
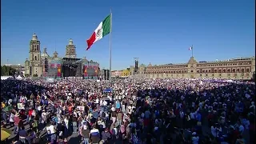
[[[134,66],[130,66],[130,74],[134,74]],[[251,79],[254,74],[255,57],[214,62],[197,62],[191,57],[189,62],[181,64],[141,65],[137,75],[145,78]]]

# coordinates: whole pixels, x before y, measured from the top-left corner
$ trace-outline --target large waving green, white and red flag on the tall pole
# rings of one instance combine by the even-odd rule
[[[106,34],[110,34],[111,31],[111,14],[107,16],[94,30],[94,33],[90,36],[90,38],[86,41],[87,42],[87,49],[90,49],[95,42],[102,39]]]

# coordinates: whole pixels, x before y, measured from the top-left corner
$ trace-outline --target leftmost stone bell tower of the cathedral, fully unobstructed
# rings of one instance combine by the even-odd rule
[[[40,77],[42,75],[42,62],[41,62],[41,50],[40,41],[38,41],[38,36],[33,34],[30,40],[30,75],[37,75]]]

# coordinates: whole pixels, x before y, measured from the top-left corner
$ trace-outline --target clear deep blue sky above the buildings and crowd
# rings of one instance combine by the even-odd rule
[[[86,51],[86,39],[113,12],[112,70],[134,65],[254,56],[254,0],[2,0],[1,63],[23,64],[36,33],[48,54],[65,55],[69,38],[78,58],[109,66],[109,37]],[[42,50],[42,49],[41,49]]]

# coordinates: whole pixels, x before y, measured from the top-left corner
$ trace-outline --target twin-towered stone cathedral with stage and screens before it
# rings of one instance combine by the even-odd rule
[[[41,53],[41,43],[38,36],[33,34],[30,40],[30,57],[26,58],[25,75],[26,77],[97,77],[98,62],[88,61],[86,58],[77,58],[76,46],[70,38],[66,46],[64,58],[58,57],[55,50],[50,56],[47,54],[46,47]],[[91,72],[91,73],[88,73]]]

